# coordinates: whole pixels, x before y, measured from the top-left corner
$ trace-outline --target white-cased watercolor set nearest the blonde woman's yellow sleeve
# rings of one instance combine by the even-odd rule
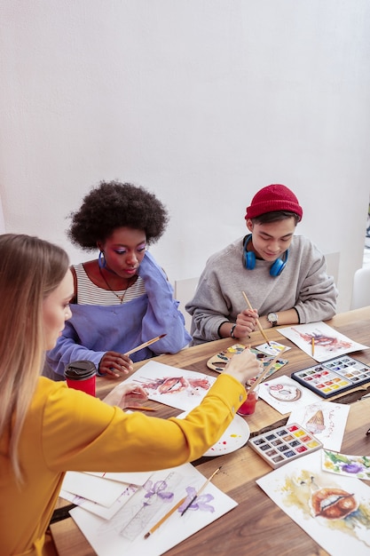
[[[248,444],[274,469],[323,447],[301,425],[290,423],[249,439]]]

